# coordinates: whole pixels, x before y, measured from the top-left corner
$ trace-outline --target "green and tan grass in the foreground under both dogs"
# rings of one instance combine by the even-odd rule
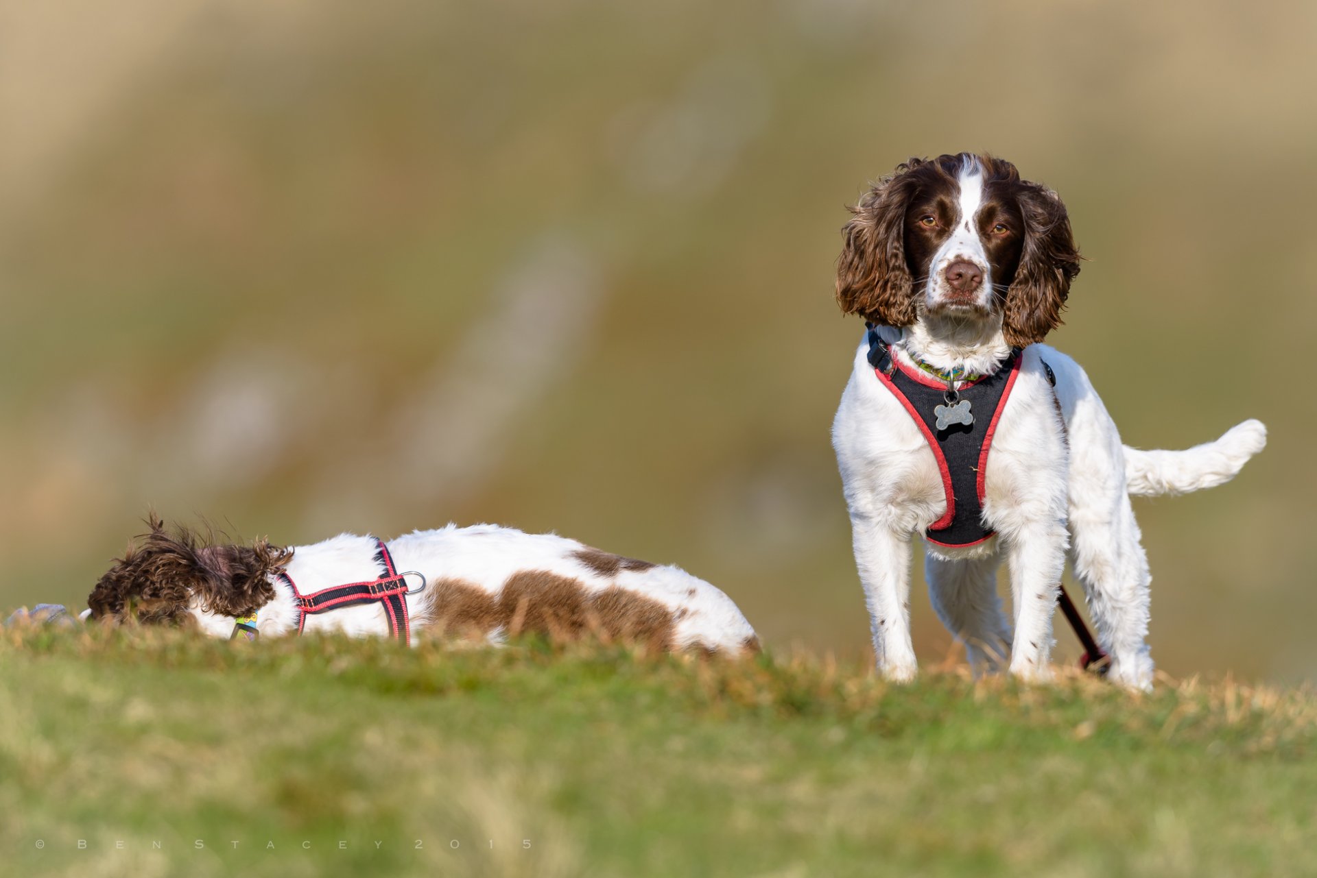
[[[1303,690],[128,629],[0,669],[14,874],[1317,871]]]

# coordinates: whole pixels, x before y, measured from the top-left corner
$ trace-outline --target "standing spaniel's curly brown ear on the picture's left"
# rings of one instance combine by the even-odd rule
[[[848,315],[885,326],[915,321],[914,284],[905,258],[905,215],[918,180],[910,171],[923,165],[911,158],[878,180],[851,208],[842,226],[842,255],[836,263],[836,303]]]

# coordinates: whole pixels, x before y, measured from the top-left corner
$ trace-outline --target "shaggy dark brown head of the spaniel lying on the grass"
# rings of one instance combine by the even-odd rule
[[[274,598],[270,578],[292,557],[265,540],[241,546],[169,532],[154,513],[146,524],[87,598],[92,619],[180,625],[200,613],[246,616]]]

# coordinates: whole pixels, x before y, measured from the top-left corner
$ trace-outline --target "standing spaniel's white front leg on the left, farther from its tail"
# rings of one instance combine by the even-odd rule
[[[878,673],[897,682],[914,679],[918,665],[910,641],[910,536],[865,519],[851,520],[851,534]]]

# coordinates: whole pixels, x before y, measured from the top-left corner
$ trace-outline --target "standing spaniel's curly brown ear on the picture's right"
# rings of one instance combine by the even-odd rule
[[[1023,348],[1043,341],[1062,324],[1062,308],[1071,280],[1079,274],[1080,255],[1065,205],[1055,192],[1025,183],[1018,197],[1025,217],[1025,246],[1006,291],[1002,333],[1006,344]]]

